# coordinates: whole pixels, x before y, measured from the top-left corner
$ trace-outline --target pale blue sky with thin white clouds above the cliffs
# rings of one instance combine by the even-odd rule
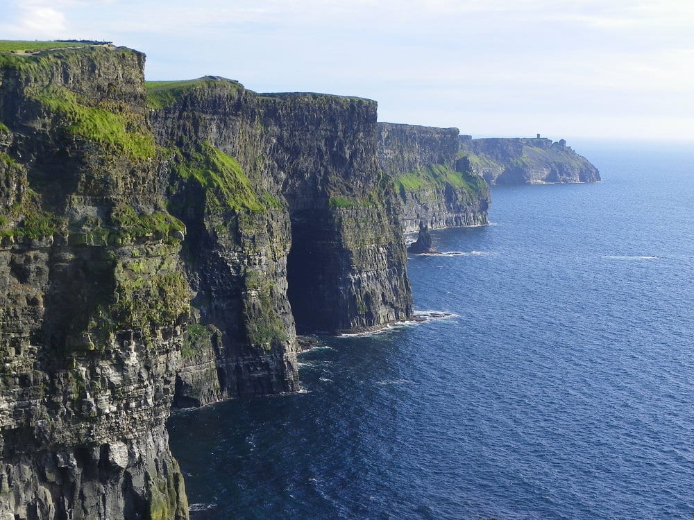
[[[0,39],[107,40],[147,80],[378,101],[473,137],[694,141],[690,0],[0,0]],[[569,143],[570,144],[570,143]]]

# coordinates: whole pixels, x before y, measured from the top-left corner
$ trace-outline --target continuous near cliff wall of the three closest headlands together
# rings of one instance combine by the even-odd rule
[[[185,519],[172,405],[412,315],[376,104],[56,45],[0,52],[0,519]]]

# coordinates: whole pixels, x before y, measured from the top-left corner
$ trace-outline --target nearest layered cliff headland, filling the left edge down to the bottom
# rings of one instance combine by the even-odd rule
[[[187,320],[144,56],[0,55],[0,517],[185,519]]]

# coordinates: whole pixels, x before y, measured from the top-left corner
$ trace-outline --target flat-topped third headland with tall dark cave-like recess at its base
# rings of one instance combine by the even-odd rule
[[[397,195],[376,158],[376,104],[317,94],[277,94],[268,103],[291,218],[298,330],[362,331],[409,318]]]

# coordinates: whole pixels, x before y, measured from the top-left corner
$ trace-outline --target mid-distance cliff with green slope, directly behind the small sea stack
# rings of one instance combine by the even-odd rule
[[[489,187],[458,152],[457,128],[378,124],[378,162],[395,180],[405,232],[487,223]]]

